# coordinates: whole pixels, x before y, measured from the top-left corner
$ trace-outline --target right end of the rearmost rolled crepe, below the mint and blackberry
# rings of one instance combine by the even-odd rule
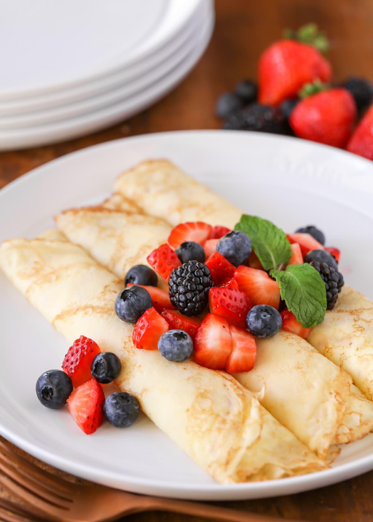
[[[333,310],[308,337],[312,346],[348,372],[373,400],[373,303],[344,286]]]

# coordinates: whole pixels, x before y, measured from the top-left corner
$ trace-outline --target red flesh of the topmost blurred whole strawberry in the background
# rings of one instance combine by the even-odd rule
[[[330,63],[312,45],[280,40],[260,55],[259,102],[278,105],[295,98],[304,84],[316,78],[327,82],[331,76]]]

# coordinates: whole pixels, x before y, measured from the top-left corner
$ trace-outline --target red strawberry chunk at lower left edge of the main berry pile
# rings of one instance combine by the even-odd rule
[[[162,334],[168,331],[168,323],[152,306],[137,319],[132,332],[132,342],[136,348],[143,350],[156,350],[157,343]]]

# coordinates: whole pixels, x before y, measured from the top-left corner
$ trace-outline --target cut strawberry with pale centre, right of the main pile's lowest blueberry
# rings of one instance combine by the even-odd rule
[[[194,360],[197,364],[223,370],[232,351],[229,324],[224,317],[207,314],[194,340]]]

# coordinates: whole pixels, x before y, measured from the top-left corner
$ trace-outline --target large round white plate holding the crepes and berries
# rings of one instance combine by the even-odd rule
[[[157,157],[170,158],[247,212],[287,231],[319,225],[328,244],[341,248],[346,282],[373,298],[368,240],[373,164],[295,138],[191,131],[127,138],[75,152],[0,191],[0,240],[37,235],[52,226],[55,213],[107,196],[123,169]],[[56,467],[138,493],[199,500],[296,493],[373,469],[373,434],[343,447],[330,470],[229,485],[209,478],[145,416],[129,429],[106,424],[86,436],[67,411],[43,408],[34,393],[37,377],[61,364],[66,342],[2,274],[0,289],[0,433]]]

